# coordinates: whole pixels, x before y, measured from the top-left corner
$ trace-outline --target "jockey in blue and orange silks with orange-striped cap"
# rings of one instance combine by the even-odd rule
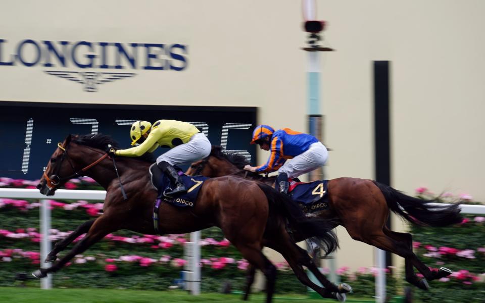
[[[251,144],[259,144],[261,149],[271,150],[268,161],[258,167],[250,165],[245,169],[255,173],[278,171],[276,187],[288,193],[288,177],[296,178],[325,164],[327,148],[314,136],[289,128],[274,131],[271,126],[259,125],[253,131]],[[286,162],[286,159],[293,159]]]

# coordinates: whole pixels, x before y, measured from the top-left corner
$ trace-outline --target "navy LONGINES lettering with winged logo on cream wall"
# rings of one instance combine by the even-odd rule
[[[8,49],[8,51],[6,51]],[[85,91],[98,85],[136,75],[120,70],[172,70],[187,68],[188,46],[161,43],[87,41],[36,41],[25,39],[16,45],[0,39],[0,68],[41,66],[45,73],[83,84]],[[59,68],[77,67],[81,70]],[[106,71],[92,71],[102,69]]]

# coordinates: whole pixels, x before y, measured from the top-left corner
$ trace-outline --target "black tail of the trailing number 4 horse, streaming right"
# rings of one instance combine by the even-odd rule
[[[432,205],[436,199],[420,199],[405,195],[391,186],[373,181],[385,197],[387,206],[411,223],[443,227],[462,221],[460,203]]]

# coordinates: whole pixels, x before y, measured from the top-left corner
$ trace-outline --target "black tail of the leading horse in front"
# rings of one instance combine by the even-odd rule
[[[273,187],[258,183],[263,190],[270,207],[281,210],[282,215],[288,219],[289,224],[305,238],[316,237],[325,256],[338,248],[337,235],[332,230],[333,224],[321,218],[307,218],[300,207],[287,195],[279,193]]]

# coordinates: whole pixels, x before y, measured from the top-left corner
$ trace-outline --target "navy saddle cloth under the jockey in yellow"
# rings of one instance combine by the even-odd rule
[[[181,169],[179,169],[178,167],[175,167],[175,169],[177,169],[178,174],[181,176],[183,184],[185,185],[185,188],[187,188],[186,193],[177,195],[175,197],[169,197],[164,195],[164,192],[168,188],[173,188],[174,185],[171,184],[170,179],[160,171],[156,163],[150,166],[152,185],[158,190],[158,197],[162,201],[178,207],[194,207],[197,195],[202,187],[202,184],[206,179],[209,178],[204,176],[187,176],[184,175]]]

